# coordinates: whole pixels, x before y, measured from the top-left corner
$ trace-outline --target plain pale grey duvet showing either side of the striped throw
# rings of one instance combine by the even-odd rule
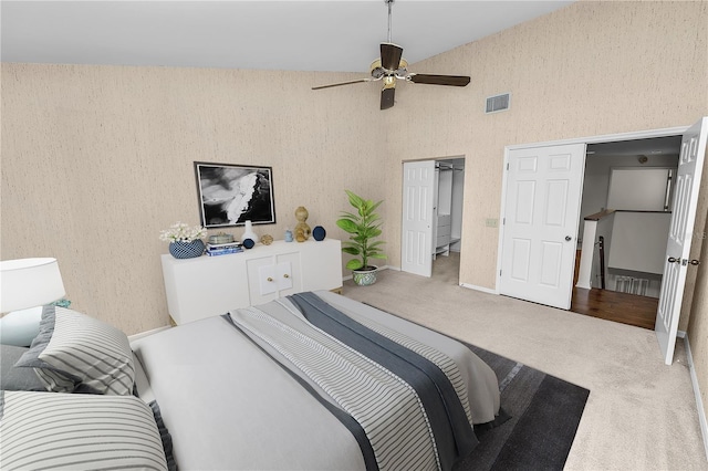
[[[352,317],[375,320],[459,360],[472,421],[494,419],[497,378],[467,347],[346,297],[317,295]],[[352,433],[222,317],[163,331],[132,347],[149,380],[138,388],[157,399],[181,470],[365,469]]]

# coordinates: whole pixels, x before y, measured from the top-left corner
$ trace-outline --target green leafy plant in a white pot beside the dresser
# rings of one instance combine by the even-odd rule
[[[350,240],[343,242],[342,252],[357,258],[350,260],[346,268],[352,270],[354,282],[361,286],[376,282],[377,266],[371,264],[371,259],[386,259],[381,247],[383,241],[373,241],[381,236],[381,217],[375,212],[383,201],[374,202],[364,199],[350,190],[346,195],[355,212],[342,211],[336,224],[350,233]]]

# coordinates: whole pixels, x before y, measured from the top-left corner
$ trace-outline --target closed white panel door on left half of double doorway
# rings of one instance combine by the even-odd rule
[[[499,292],[571,306],[585,144],[509,151]]]

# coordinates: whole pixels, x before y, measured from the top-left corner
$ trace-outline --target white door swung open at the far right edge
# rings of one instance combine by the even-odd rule
[[[690,242],[696,221],[698,188],[706,156],[708,117],[693,125],[681,139],[681,151],[674,190],[671,223],[666,245],[666,265],[662,279],[659,307],[654,331],[667,365],[674,362],[678,317],[684,299],[686,271],[690,265]]]

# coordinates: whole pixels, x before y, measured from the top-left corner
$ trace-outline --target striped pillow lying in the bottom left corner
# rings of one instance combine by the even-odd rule
[[[0,469],[167,470],[153,411],[134,396],[0,391]]]

